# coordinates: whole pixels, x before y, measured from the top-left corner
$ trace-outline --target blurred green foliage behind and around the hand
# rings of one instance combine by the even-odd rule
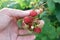
[[[39,18],[44,20],[45,24],[42,32],[36,34],[35,40],[60,40],[60,0],[0,0],[0,10],[2,8],[29,10],[37,5],[42,5],[44,9]]]

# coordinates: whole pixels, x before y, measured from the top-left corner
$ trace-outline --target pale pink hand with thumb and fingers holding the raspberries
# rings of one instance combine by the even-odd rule
[[[18,18],[28,16],[32,10],[17,10],[3,8],[0,10],[0,40],[34,40],[35,35],[18,36],[18,34],[26,34],[27,30],[19,30],[16,24]],[[39,13],[38,10],[36,10]],[[44,21],[40,21],[40,26]]]

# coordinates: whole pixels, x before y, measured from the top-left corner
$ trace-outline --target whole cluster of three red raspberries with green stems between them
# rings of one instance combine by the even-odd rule
[[[26,25],[28,25],[27,29],[29,29],[30,31],[33,31],[35,33],[40,33],[41,32],[41,28],[39,26],[37,26],[39,23],[37,22],[39,19],[36,18],[39,14],[35,11],[32,10],[30,12],[29,16],[24,17],[23,21]]]

